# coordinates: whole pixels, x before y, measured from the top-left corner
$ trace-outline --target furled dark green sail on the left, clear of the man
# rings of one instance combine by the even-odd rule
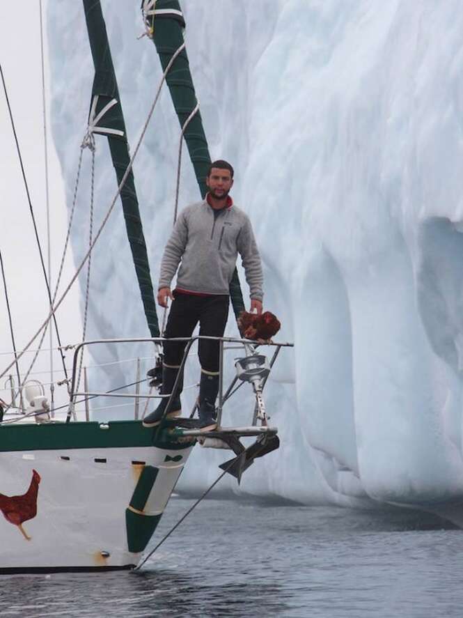
[[[88,124],[94,133],[106,135],[108,138],[111,159],[116,170],[118,184],[130,162],[127,132],[116,74],[114,72],[111,50],[109,49],[106,24],[100,5],[100,0],[83,0],[85,19],[88,30],[88,40],[95,65],[93,80],[91,111]],[[104,111],[104,108],[107,108]],[[101,117],[99,115],[101,114]],[[146,251],[143,227],[141,226],[139,203],[136,198],[134,175],[130,171],[125,185],[120,192],[125,227],[130,242],[134,260],[136,277],[139,281],[141,300],[145,310],[151,337],[159,337],[155,296],[152,289],[150,265]]]

